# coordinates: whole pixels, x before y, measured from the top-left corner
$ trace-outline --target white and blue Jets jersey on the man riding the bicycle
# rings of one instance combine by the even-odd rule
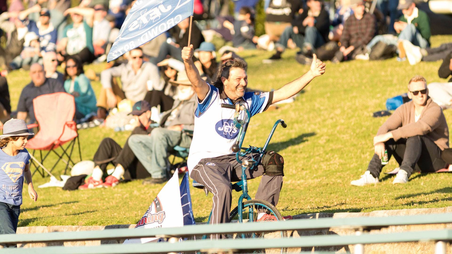
[[[263,112],[270,104],[273,92],[247,92],[236,103],[243,104],[254,116]],[[193,140],[188,155],[188,171],[198,164],[199,160],[232,154],[231,146],[237,141],[239,130],[234,126],[235,110],[221,108],[221,103],[232,104],[231,99],[220,98],[220,92],[209,85],[206,98],[199,102],[195,111],[195,127]],[[245,118],[245,112],[239,118]]]

